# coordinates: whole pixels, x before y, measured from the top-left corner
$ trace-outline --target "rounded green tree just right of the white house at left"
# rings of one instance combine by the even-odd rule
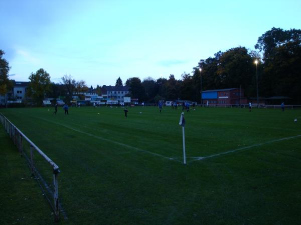
[[[28,78],[30,80],[28,94],[40,106],[51,87],[50,75],[40,68],[36,73],[32,72]]]

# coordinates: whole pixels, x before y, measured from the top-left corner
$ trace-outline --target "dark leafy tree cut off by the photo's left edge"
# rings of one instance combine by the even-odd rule
[[[5,95],[13,87],[12,80],[9,79],[11,69],[9,62],[3,58],[5,52],[0,49],[0,95]]]

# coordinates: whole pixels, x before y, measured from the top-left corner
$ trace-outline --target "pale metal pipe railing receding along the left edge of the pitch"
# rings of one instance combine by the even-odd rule
[[[14,144],[17,146],[18,150],[21,153],[21,156],[25,156],[28,160],[29,167],[31,169],[32,175],[38,175],[39,171],[35,167],[35,161],[34,161],[34,150],[36,150],[51,166],[53,169],[53,190],[51,191],[51,194],[54,198],[54,204],[52,205],[51,201],[47,198],[46,194],[44,196],[47,198],[47,200],[50,203],[50,206],[52,207],[54,214],[55,214],[55,221],[59,220],[59,186],[58,186],[58,175],[60,173],[59,166],[53,162],[36,144],[34,144],[20,129],[18,129],[7,117],[5,117],[2,113],[0,113],[0,121],[3,124],[5,130],[9,134],[9,136],[13,139]],[[26,140],[30,145],[30,157],[25,153],[24,151],[24,140]],[[39,183],[40,184],[40,183]],[[41,184],[40,184],[41,186]],[[41,186],[42,191],[43,187]],[[49,188],[49,187],[46,187]]]

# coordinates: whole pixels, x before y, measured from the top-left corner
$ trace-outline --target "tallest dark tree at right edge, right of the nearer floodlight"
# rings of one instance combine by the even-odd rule
[[[301,103],[301,30],[272,27],[258,38],[255,48],[263,53],[264,75],[259,92],[288,96]]]

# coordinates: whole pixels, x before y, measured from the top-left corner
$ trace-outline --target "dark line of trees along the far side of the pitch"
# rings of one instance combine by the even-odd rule
[[[140,101],[157,102],[158,100],[185,99],[201,101],[201,89],[221,89],[241,87],[245,96],[256,96],[256,65],[257,59],[258,90],[260,97],[287,96],[294,103],[301,103],[301,30],[272,27],[258,37],[255,50],[237,46],[226,51],[218,51],[213,57],[201,59],[191,73],[184,72],[180,79],[174,74],[169,78],[130,77],[125,86],[130,96]],[[0,50],[0,94],[11,88],[8,78],[9,63],[3,58]],[[200,70],[201,69],[201,70]],[[84,80],[76,81],[71,75],[65,75],[61,83],[51,83],[50,75],[39,69],[29,76],[29,95],[37,102],[47,95],[51,97],[66,96],[72,98],[73,92],[84,92],[87,87]],[[116,86],[123,82],[118,77]],[[97,93],[101,93],[99,85]]]

